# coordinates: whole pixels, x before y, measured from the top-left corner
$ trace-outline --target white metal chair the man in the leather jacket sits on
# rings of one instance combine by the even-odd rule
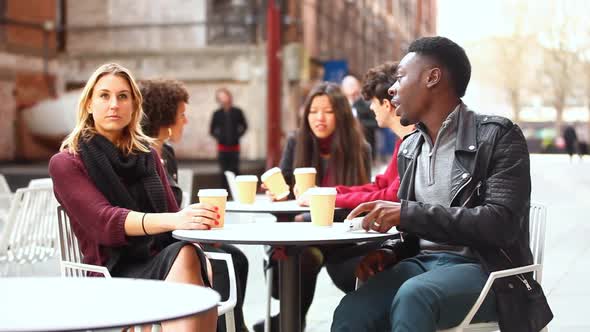
[[[492,332],[499,331],[500,327],[497,322],[488,323],[471,323],[471,320],[479,310],[479,307],[486,298],[488,292],[492,288],[492,284],[496,279],[515,276],[522,273],[533,272],[535,280],[540,284],[543,275],[543,251],[545,249],[545,224],[547,221],[547,209],[544,205],[532,202],[529,210],[529,233],[530,233],[530,246],[533,253],[533,264],[527,266],[521,266],[513,269],[495,271],[490,273],[488,280],[486,281],[479,297],[475,301],[471,310],[467,313],[463,321],[451,328],[446,330],[438,330],[438,332]],[[357,286],[361,286],[360,281],[357,279]],[[545,327],[542,332],[547,332]]]

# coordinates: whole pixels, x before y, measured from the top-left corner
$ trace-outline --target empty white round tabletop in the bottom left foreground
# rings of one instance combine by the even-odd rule
[[[128,278],[0,278],[0,331],[133,326],[209,310],[215,291]]]

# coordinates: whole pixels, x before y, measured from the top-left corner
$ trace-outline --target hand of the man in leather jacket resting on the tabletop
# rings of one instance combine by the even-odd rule
[[[368,212],[363,218],[363,229],[387,233],[400,223],[401,204],[390,201],[373,201],[357,206],[346,219],[351,220],[361,213]]]

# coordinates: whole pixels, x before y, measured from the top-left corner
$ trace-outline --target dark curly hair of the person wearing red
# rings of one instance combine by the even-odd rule
[[[363,87],[361,94],[365,100],[371,100],[373,97],[379,99],[379,103],[383,99],[389,100],[391,97],[387,90],[395,83],[395,72],[397,70],[397,62],[386,62],[379,66],[373,67],[367,71],[363,77]]]

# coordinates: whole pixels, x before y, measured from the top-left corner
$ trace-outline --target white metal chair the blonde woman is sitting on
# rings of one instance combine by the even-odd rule
[[[82,263],[82,252],[78,245],[78,239],[72,230],[70,218],[65,210],[57,207],[58,230],[59,230],[59,248],[60,248],[60,271],[62,277],[86,277],[87,272],[100,273],[105,278],[111,278],[111,274],[104,266],[90,265]],[[230,254],[206,252],[207,257],[213,260],[223,260],[227,264],[227,273],[229,274],[229,297],[225,301],[219,302],[217,314],[225,315],[226,330],[235,332],[234,308],[237,302],[237,285],[234,265]]]

